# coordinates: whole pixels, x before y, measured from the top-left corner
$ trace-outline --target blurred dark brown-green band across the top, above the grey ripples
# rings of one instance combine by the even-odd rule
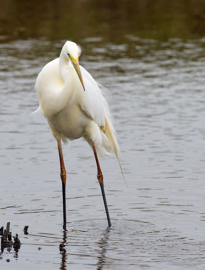
[[[159,41],[205,36],[203,0],[1,0],[0,7],[1,42],[98,37],[120,44],[125,35]]]

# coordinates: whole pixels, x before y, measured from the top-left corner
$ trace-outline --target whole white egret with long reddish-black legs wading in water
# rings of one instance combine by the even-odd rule
[[[82,66],[79,66],[80,54],[79,45],[66,41],[60,57],[43,67],[35,84],[39,107],[33,114],[46,117],[50,130],[57,140],[61,165],[64,224],[66,223],[66,170],[61,140],[65,143],[67,139],[75,140],[84,137],[95,155],[97,179],[102,191],[108,225],[111,226],[97,154],[106,157],[113,150],[119,161],[120,148],[108,104],[96,81]]]

